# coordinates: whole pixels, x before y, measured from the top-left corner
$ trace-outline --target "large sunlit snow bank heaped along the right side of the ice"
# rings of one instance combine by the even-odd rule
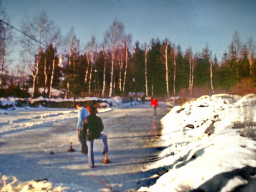
[[[255,191],[255,111],[254,94],[206,95],[175,106],[161,120],[167,147],[144,169],[169,171],[139,191]]]

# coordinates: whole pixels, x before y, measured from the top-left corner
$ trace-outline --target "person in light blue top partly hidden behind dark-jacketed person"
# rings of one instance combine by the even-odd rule
[[[77,130],[78,130],[78,139],[79,139],[79,142],[81,143],[81,153],[87,154],[88,148],[86,145],[85,134],[83,133],[83,129],[82,129],[82,122],[83,122],[84,118],[89,115],[89,113],[88,113],[87,109],[82,107],[80,104],[77,104],[76,108],[78,109]]]

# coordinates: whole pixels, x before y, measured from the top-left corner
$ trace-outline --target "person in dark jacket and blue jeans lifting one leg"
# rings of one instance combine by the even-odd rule
[[[88,164],[91,168],[94,167],[93,143],[94,139],[103,141],[102,154],[108,152],[107,136],[101,134],[104,129],[102,119],[96,115],[97,109],[94,106],[87,108],[90,115],[83,120],[82,127],[86,132],[86,144],[88,146]]]

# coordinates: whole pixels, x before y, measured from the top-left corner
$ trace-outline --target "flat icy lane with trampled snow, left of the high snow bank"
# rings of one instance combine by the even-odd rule
[[[151,176],[158,169],[141,169],[162,150],[159,120],[169,109],[164,102],[159,106],[157,116],[149,102],[99,109],[112,162],[101,163],[101,142],[96,140],[94,169],[88,167],[87,155],[80,153],[76,109],[0,111],[0,191],[134,191],[153,184],[156,177]],[[74,153],[67,152],[70,142]],[[48,181],[35,181],[45,178]]]

